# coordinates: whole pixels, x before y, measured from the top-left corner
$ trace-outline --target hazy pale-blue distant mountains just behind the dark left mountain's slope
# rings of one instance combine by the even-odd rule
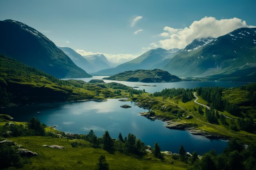
[[[82,56],[69,47],[58,47],[80,68],[88,73],[96,72],[102,69],[111,68],[111,63],[103,54],[94,54]]]

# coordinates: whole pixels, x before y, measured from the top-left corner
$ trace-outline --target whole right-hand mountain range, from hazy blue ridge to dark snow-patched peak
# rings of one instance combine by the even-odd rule
[[[195,39],[181,50],[152,49],[130,62],[93,74],[154,68],[179,77],[256,82],[256,28],[236,29],[218,38]]]

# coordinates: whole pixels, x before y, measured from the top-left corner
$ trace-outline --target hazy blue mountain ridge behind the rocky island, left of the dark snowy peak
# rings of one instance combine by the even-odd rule
[[[129,71],[129,70],[137,70],[137,69],[151,69],[154,67],[154,65],[162,61],[166,58],[171,58],[173,57],[174,51],[168,51],[162,48],[157,48],[157,49],[151,49],[147,51],[146,53],[140,55],[139,57],[126,62],[124,64],[120,64],[119,66],[115,68],[109,68],[109,69],[104,69],[101,71],[98,71],[97,73],[92,73],[94,75],[114,75],[117,73],[121,73],[124,71]]]

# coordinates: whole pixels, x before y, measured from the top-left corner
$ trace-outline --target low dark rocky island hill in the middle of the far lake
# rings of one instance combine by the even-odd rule
[[[103,79],[144,83],[179,82],[182,80],[180,77],[160,69],[125,71]]]

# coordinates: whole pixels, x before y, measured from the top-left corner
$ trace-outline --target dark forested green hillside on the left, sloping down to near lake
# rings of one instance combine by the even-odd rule
[[[0,105],[58,102],[118,97],[115,83],[91,84],[81,80],[61,80],[12,58],[0,55]],[[135,90],[136,91],[136,90]],[[126,95],[124,93],[124,95]]]

